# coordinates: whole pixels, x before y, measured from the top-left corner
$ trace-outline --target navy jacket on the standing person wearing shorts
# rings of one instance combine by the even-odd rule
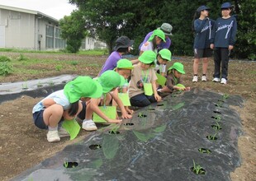
[[[197,19],[194,21],[194,30],[196,33],[194,39],[194,49],[210,48],[210,39],[212,28],[215,21],[205,18],[204,20]]]

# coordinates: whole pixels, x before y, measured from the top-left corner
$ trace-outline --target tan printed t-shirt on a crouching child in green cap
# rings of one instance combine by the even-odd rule
[[[135,65],[130,75],[129,97],[131,98],[144,93],[143,83],[151,83],[157,79],[154,68],[143,71],[140,67],[140,63]]]

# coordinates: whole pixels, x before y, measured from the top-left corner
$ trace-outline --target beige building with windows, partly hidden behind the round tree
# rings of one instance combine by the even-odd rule
[[[51,16],[0,5],[0,48],[64,49],[66,43],[60,38],[60,32],[59,21]],[[83,39],[81,49],[95,49],[95,42],[96,39],[86,37]]]

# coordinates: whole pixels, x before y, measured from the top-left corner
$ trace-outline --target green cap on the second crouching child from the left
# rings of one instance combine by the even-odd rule
[[[120,76],[119,73],[110,70],[103,72],[102,76],[98,77],[96,81],[102,85],[103,93],[110,92],[113,88],[123,86],[126,83],[124,77]]]

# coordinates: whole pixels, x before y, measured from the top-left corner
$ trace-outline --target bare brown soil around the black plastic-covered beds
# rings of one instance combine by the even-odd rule
[[[17,53],[1,53],[17,57]],[[55,77],[63,74],[77,74],[96,76],[106,56],[59,55],[44,53],[24,53],[29,58],[41,58],[42,63],[31,66],[34,70],[47,69],[43,74],[26,74],[27,80]],[[69,65],[56,72],[54,65],[45,65],[45,58],[61,61],[77,61],[78,65]],[[132,58],[131,58],[132,59]],[[86,67],[79,66],[79,61],[87,61]],[[184,85],[213,90],[229,95],[241,95],[245,102],[242,108],[234,107],[240,114],[244,135],[239,137],[238,146],[242,157],[242,164],[230,174],[232,180],[254,180],[256,178],[256,63],[234,60],[229,65],[229,81],[227,85],[211,82],[214,68],[210,60],[208,78],[210,81],[192,83],[192,58],[173,58],[172,63],[181,62],[185,66],[186,75]],[[52,68],[53,67],[53,68]],[[10,75],[0,77],[0,83],[9,81],[23,81],[24,77]],[[1,85],[0,85],[1,86]],[[22,171],[30,169],[42,160],[62,151],[65,146],[73,144],[87,137],[89,132],[81,131],[76,139],[62,138],[61,142],[50,143],[46,140],[46,131],[36,128],[32,121],[31,110],[42,98],[32,98],[21,95],[16,100],[5,101],[0,104],[0,180],[11,179]]]

